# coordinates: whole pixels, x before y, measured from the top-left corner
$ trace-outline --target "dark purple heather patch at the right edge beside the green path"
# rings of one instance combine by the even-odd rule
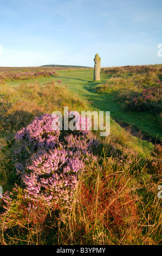
[[[141,96],[130,97],[126,102],[127,107],[139,111],[151,110],[160,112],[162,109],[162,85],[160,81],[158,82],[159,86],[144,89]]]

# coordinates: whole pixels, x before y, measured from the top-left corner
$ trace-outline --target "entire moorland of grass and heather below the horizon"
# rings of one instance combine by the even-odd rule
[[[162,65],[102,68],[100,78],[0,68],[1,245],[161,245]],[[110,111],[109,136],[53,134],[50,115],[65,106]]]

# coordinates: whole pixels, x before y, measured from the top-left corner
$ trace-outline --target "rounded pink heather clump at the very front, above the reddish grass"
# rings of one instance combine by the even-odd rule
[[[77,154],[64,149],[38,151],[30,157],[22,177],[27,197],[43,199],[49,205],[61,200],[68,207],[77,185],[77,173],[83,165]]]

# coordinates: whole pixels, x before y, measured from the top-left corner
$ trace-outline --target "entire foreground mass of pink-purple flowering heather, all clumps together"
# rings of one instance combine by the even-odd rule
[[[61,131],[52,130],[54,120],[59,123],[57,115],[43,114],[18,131],[13,159],[26,198],[47,205],[61,200],[64,208],[70,208],[78,174],[86,161],[97,162],[93,153],[99,142],[92,132],[81,129],[60,140]]]

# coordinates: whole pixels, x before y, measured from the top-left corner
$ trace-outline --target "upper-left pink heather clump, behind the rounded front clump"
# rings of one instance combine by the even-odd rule
[[[40,149],[51,149],[59,140],[60,131],[53,131],[52,122],[57,117],[44,114],[36,117],[27,127],[18,131],[15,135],[16,150],[14,159],[17,173],[22,173],[29,157]]]

